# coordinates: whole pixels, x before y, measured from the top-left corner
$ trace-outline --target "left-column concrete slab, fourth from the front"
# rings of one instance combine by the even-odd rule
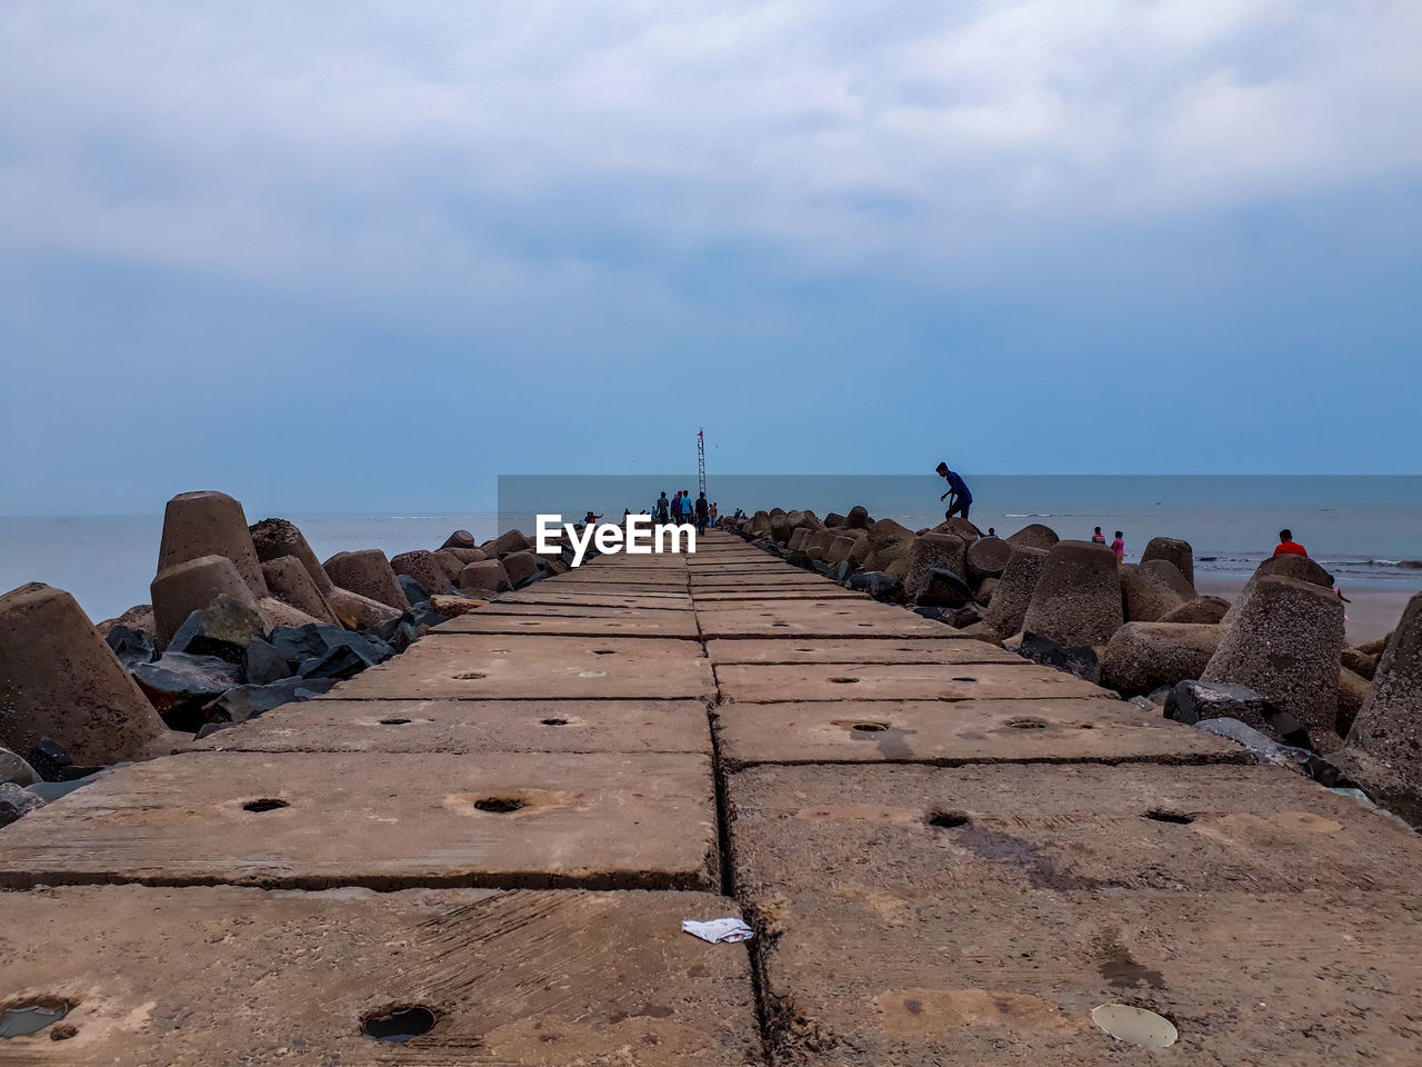
[[[319,700],[674,700],[715,691],[695,642],[448,635],[343,681]]]

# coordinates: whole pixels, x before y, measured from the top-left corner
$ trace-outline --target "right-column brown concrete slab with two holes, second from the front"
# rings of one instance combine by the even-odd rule
[[[1163,889],[1189,908],[1236,889],[1412,893],[1422,864],[1416,834],[1274,767],[755,767],[727,795],[745,885],[859,868],[921,901]]]

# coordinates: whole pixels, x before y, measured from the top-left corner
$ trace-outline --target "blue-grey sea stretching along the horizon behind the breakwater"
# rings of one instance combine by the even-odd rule
[[[1247,576],[1290,528],[1342,588],[1422,589],[1422,475],[983,475],[964,471],[984,532],[1008,535],[1041,522],[1062,538],[1108,541],[1122,531],[1126,561],[1153,536],[1189,541],[1196,570]],[[697,488],[697,475],[503,475],[496,506],[407,514],[284,514],[316,555],[378,548],[387,555],[434,549],[455,529],[478,539],[535,515],[580,521],[587,511],[620,522],[650,511],[663,489]],[[927,475],[715,475],[707,498],[737,508],[808,508],[819,516],[856,504],[910,529],[943,521],[946,484]],[[270,512],[247,508],[256,522]],[[148,602],[162,515],[0,516],[0,590],[46,582],[71,592],[95,622]]]

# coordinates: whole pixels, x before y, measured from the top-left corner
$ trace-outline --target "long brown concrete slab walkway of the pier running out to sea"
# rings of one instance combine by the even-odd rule
[[[954,633],[712,532],[118,770],[0,831],[0,1064],[1422,1057],[1415,834]]]

